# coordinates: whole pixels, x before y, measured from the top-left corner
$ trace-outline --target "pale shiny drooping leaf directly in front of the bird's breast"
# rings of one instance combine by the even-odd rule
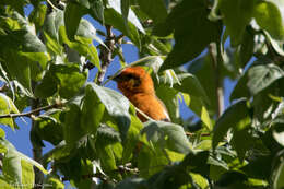
[[[87,85],[94,90],[97,97],[105,105],[107,113],[117,121],[123,141],[130,127],[129,101],[120,93],[110,88],[102,87],[94,83],[88,83]]]

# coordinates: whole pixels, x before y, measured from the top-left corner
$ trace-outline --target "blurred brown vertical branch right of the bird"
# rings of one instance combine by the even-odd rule
[[[224,90],[222,80],[220,78],[220,61],[218,57],[221,56],[221,50],[218,50],[218,47],[216,44],[211,43],[209,45],[209,52],[213,64],[213,71],[215,75],[215,93],[216,93],[216,102],[217,102],[217,117],[222,115],[224,111]]]

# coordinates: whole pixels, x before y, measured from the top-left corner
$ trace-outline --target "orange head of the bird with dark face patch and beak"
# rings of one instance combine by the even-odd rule
[[[118,88],[126,96],[135,93],[155,93],[152,78],[141,67],[126,68],[113,80],[117,82]]]

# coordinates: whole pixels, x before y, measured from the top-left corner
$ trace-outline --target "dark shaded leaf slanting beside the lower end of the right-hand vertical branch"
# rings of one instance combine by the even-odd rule
[[[216,149],[218,142],[223,141],[224,137],[230,128],[237,127],[237,125],[242,119],[247,118],[248,115],[249,113],[247,101],[244,98],[229,106],[226,111],[217,119],[214,126],[212,143],[213,149]]]

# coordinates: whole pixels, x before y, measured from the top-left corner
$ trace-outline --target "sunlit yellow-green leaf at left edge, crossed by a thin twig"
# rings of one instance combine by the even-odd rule
[[[8,115],[11,113],[19,114],[17,108],[15,107],[12,99],[4,94],[0,93],[0,115]],[[0,118],[1,125],[8,125],[14,129],[14,122],[12,118]],[[2,135],[2,134],[1,134]],[[1,137],[2,138],[2,137]]]

